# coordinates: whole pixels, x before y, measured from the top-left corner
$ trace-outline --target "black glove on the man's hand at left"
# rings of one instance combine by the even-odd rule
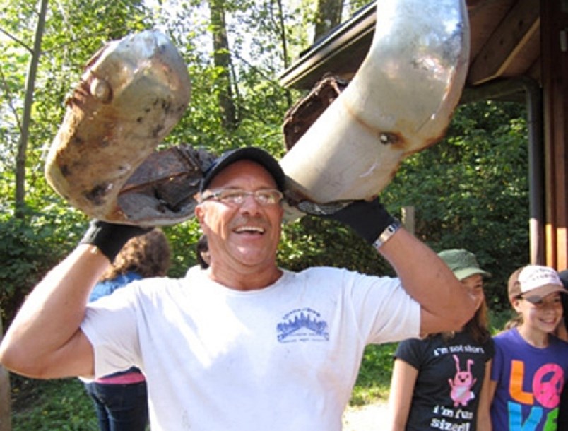
[[[128,240],[138,235],[144,235],[150,230],[153,230],[153,228],[91,220],[89,228],[79,244],[95,245],[112,262]]]

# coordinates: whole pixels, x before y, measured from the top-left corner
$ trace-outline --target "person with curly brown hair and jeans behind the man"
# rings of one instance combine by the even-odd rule
[[[170,244],[161,230],[134,237],[90,293],[89,302],[124,288],[131,281],[165,276],[170,268]],[[83,379],[93,399],[101,431],[144,431],[148,424],[148,394],[142,372],[131,367],[95,380]]]

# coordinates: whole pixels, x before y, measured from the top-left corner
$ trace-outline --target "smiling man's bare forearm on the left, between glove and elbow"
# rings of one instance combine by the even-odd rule
[[[80,245],[49,271],[8,328],[0,362],[20,374],[44,374],[42,367],[49,367],[79,331],[90,290],[109,264],[96,247]]]

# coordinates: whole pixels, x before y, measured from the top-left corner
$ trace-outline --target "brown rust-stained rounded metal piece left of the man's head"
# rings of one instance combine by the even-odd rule
[[[90,59],[67,100],[47,156],[47,181],[92,218],[146,223],[149,218],[131,207],[123,186],[179,122],[190,92],[186,64],[159,31],[108,43]],[[151,224],[156,220],[167,223],[158,218]]]

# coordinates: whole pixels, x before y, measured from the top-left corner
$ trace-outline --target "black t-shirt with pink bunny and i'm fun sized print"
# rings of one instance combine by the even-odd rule
[[[493,354],[491,339],[480,345],[464,332],[448,341],[439,334],[402,341],[395,357],[418,370],[406,430],[474,431],[485,364]]]

